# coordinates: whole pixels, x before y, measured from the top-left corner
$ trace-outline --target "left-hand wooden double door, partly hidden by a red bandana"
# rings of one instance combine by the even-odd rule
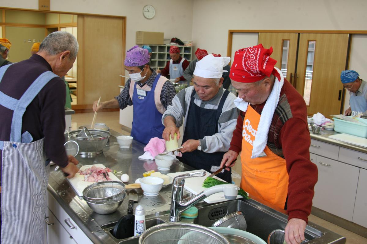
[[[282,71],[284,77],[293,82],[296,64],[298,33],[259,33],[258,43],[264,48],[273,47],[271,57],[277,60],[275,67]]]

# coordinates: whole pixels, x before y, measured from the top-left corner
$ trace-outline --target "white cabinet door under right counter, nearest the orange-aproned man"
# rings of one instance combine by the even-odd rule
[[[352,221],[359,168],[317,155],[313,206]]]

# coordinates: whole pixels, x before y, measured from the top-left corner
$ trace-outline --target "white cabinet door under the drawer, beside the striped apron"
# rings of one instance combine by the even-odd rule
[[[46,225],[48,244],[77,244],[48,208],[46,218],[48,223],[50,223],[50,225]]]

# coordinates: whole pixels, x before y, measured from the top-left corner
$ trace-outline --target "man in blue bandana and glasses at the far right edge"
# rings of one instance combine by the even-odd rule
[[[354,70],[344,70],[340,74],[340,80],[344,89],[350,94],[349,108],[345,110],[345,115],[356,116],[367,110],[367,83],[359,78],[359,74]]]

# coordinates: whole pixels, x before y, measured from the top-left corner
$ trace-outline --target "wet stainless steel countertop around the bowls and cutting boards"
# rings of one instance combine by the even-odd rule
[[[110,136],[109,145],[105,147],[103,153],[92,157],[77,155],[76,158],[79,160],[80,165],[103,164],[112,170],[122,171],[130,176],[129,184],[135,183],[135,180],[143,177],[142,174],[148,170],[155,169],[158,171],[154,161],[138,159],[138,156],[144,153],[143,148],[145,145],[133,141],[130,149],[120,149],[116,141],[116,136],[120,134],[113,130],[110,130],[110,132],[112,135]],[[51,166],[47,189],[66,213],[69,214],[93,243],[117,243],[103,231],[101,226],[116,222],[127,214],[128,196],[115,213],[109,215],[94,213],[88,204],[76,195],[61,170],[55,172],[54,169],[55,165]],[[171,166],[171,170],[163,173],[187,170],[193,170],[193,168],[175,161]],[[146,216],[165,211],[169,213],[171,204],[170,186],[163,188],[156,197],[144,196],[141,189],[137,189],[137,192],[139,203],[134,204],[134,209],[138,204],[141,204],[145,209]]]

